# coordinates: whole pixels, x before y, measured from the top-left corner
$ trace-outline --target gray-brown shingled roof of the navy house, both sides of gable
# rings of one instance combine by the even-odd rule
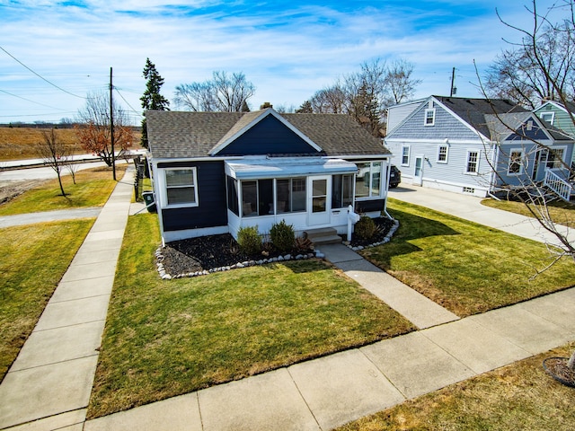
[[[261,112],[259,112],[261,113]],[[149,149],[157,159],[208,156],[218,143],[248,125],[256,112],[148,110]],[[280,114],[327,155],[390,154],[375,136],[344,114]]]

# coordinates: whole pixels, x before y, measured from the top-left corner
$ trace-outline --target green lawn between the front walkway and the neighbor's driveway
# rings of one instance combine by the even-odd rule
[[[544,244],[389,199],[400,222],[392,242],[362,254],[458,316],[485,312],[575,285],[575,264]]]

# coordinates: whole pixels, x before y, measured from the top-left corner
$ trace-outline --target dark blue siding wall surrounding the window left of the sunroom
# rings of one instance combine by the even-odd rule
[[[224,162],[158,163],[159,168],[196,167],[198,207],[164,209],[164,231],[180,231],[227,224]]]

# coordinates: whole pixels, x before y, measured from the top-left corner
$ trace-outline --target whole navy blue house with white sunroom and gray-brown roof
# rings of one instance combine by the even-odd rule
[[[147,111],[164,242],[284,219],[346,233],[348,207],[385,211],[391,154],[348,115]]]

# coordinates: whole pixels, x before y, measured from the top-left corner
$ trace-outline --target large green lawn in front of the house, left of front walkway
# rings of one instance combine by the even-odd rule
[[[157,218],[128,221],[88,416],[413,330],[320,260],[161,280]]]

